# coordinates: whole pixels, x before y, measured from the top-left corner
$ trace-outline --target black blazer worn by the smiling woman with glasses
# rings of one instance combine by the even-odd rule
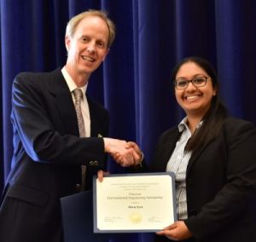
[[[152,171],[166,171],[177,127],[160,136]],[[256,241],[256,131],[253,124],[227,118],[216,139],[189,159],[186,176],[189,218],[194,234],[186,241]],[[155,241],[170,241],[155,236]]]

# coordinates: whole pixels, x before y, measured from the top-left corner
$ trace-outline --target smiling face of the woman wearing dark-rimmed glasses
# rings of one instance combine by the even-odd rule
[[[187,116],[203,118],[208,108],[211,106],[212,96],[217,90],[212,87],[212,80],[200,66],[195,62],[186,62],[177,72],[176,80],[191,80],[195,77],[207,77],[205,86],[195,87],[189,82],[185,89],[176,89],[175,96],[177,103],[186,112]]]

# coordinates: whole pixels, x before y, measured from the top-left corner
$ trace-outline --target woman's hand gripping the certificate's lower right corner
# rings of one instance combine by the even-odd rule
[[[157,232],[158,235],[165,235],[168,239],[183,240],[192,237],[192,233],[183,221],[177,221],[170,226],[164,228],[164,230]]]

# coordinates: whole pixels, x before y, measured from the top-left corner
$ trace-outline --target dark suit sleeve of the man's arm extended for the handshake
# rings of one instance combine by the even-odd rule
[[[39,85],[38,78],[21,74],[15,78],[12,95],[12,123],[14,126],[15,155],[26,154],[35,162],[49,164],[88,164],[90,160],[105,160],[102,138],[79,138],[60,134],[56,126],[60,118],[49,117],[50,105]],[[105,117],[108,125],[108,113]],[[108,130],[108,127],[103,127]],[[20,154],[19,154],[20,153]]]

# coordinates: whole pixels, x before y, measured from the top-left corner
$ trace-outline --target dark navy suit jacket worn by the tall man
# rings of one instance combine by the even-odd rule
[[[20,73],[13,84],[14,156],[0,210],[1,242],[61,241],[60,198],[86,186],[106,155],[108,112],[88,97],[90,138],[79,138],[72,96],[61,70]],[[84,208],[86,209],[86,208]]]

